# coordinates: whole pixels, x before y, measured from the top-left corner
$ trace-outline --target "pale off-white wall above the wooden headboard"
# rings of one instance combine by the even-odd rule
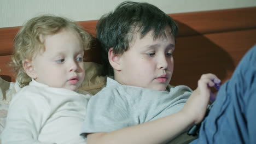
[[[21,26],[40,14],[66,16],[74,21],[97,20],[124,0],[0,0],[0,27]],[[144,0],[167,14],[255,7],[256,0]]]

